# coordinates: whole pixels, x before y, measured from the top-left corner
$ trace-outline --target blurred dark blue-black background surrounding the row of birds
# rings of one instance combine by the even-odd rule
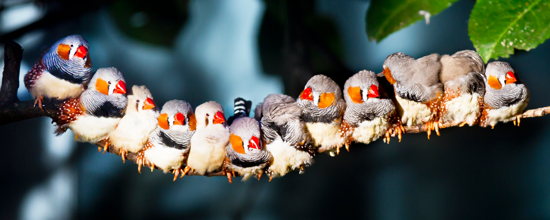
[[[297,97],[316,74],[343,86],[360,70],[381,72],[394,52],[475,50],[467,35],[474,3],[460,0],[429,25],[375,43],[365,32],[369,1],[4,0],[0,42],[23,46],[23,79],[45,48],[81,34],[94,70],[117,67],[157,103],[213,100],[230,116],[235,97],[253,105],[273,93]],[[549,58],[546,42],[500,59],[529,87],[527,109],[550,106]],[[20,83],[19,99],[31,100]],[[232,185],[139,174],[70,133],[54,137],[50,122],[0,127],[0,219],[550,219],[548,116],[354,144],[336,157],[318,155],[304,174]]]

